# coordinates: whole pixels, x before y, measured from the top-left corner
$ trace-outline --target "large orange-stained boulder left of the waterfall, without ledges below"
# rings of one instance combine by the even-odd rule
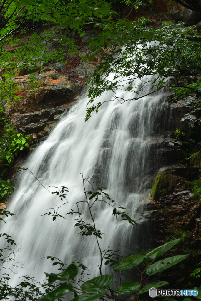
[[[44,72],[36,74],[32,79],[29,75],[11,78],[20,90],[16,93],[19,99],[2,102],[8,114],[35,112],[42,109],[53,108],[74,101],[80,88],[69,80],[69,76],[61,76],[55,69],[46,67]]]

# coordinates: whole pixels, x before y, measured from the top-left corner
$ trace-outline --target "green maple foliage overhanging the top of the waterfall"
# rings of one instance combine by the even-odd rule
[[[199,26],[183,28],[183,23],[164,22],[159,29],[149,29],[142,23],[130,30],[130,43],[119,48],[113,43],[111,52],[102,53],[102,63],[88,80],[90,98],[86,121],[102,103],[94,100],[103,92],[110,100],[121,103],[134,101],[163,89],[174,92],[174,98],[195,93],[201,95],[201,44]],[[140,32],[136,34],[137,30]],[[147,42],[146,33],[152,35]],[[155,34],[155,36],[153,36]],[[158,36],[163,37],[159,41]],[[151,90],[149,89],[151,87]],[[120,97],[118,90],[132,92]],[[111,91],[111,92],[110,92]]]

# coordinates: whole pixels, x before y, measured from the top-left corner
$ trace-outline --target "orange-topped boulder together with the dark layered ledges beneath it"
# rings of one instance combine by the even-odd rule
[[[19,100],[14,100],[12,106],[4,102],[11,124],[17,132],[35,133],[35,137],[39,133],[40,138],[40,132],[45,130],[46,134],[58,121],[58,116],[76,103],[75,98],[80,93],[69,76],[61,76],[50,67],[45,67],[33,79],[24,75],[11,80],[20,87]]]

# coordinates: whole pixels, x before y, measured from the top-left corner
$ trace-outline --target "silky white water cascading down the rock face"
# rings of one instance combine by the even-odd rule
[[[138,82],[140,84],[140,80]],[[151,91],[151,84],[148,88]],[[111,95],[103,94],[99,101],[107,101]],[[118,91],[118,96],[130,98],[132,95],[131,92]],[[62,116],[47,140],[33,151],[24,167],[28,167],[47,188],[67,186],[69,202],[83,200],[80,175],[83,173],[84,177],[96,181],[95,186],[107,188],[115,202],[126,207],[134,220],[142,222],[140,208],[145,203],[142,201],[147,188],[151,187],[150,140],[159,118],[162,98],[163,92],[158,92],[124,104],[105,102],[99,113],[93,114],[85,123],[88,99],[81,97],[77,105]],[[44,271],[56,272],[57,267],[42,259],[49,255],[68,264],[81,261],[90,274],[98,275],[99,250],[95,237],[77,236],[75,216],[65,215],[67,209],[76,208],[72,205],[61,207],[59,213],[66,219],[58,217],[55,222],[50,216],[41,216],[52,208],[53,203],[60,206],[60,199],[44,189],[28,170],[20,172],[18,177],[17,189],[9,206],[15,215],[7,219],[7,225],[2,225],[1,231],[17,242],[18,260],[23,261],[24,267],[30,271],[14,270],[17,274],[11,275],[12,285],[16,285],[22,275],[33,275],[40,281],[45,278]],[[80,211],[84,216],[83,205],[80,205]],[[89,219],[88,216],[85,218]],[[119,217],[116,219],[112,209],[102,204],[96,206],[95,222],[104,233],[100,240],[102,248],[111,246],[112,250],[120,250],[124,255],[135,251],[139,227],[133,227]]]

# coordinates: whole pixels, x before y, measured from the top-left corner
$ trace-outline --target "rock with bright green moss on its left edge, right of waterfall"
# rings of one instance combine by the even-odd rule
[[[158,173],[152,186],[153,200],[158,200],[160,197],[170,194],[174,188],[179,188],[184,182],[183,177],[168,174],[166,171]]]

